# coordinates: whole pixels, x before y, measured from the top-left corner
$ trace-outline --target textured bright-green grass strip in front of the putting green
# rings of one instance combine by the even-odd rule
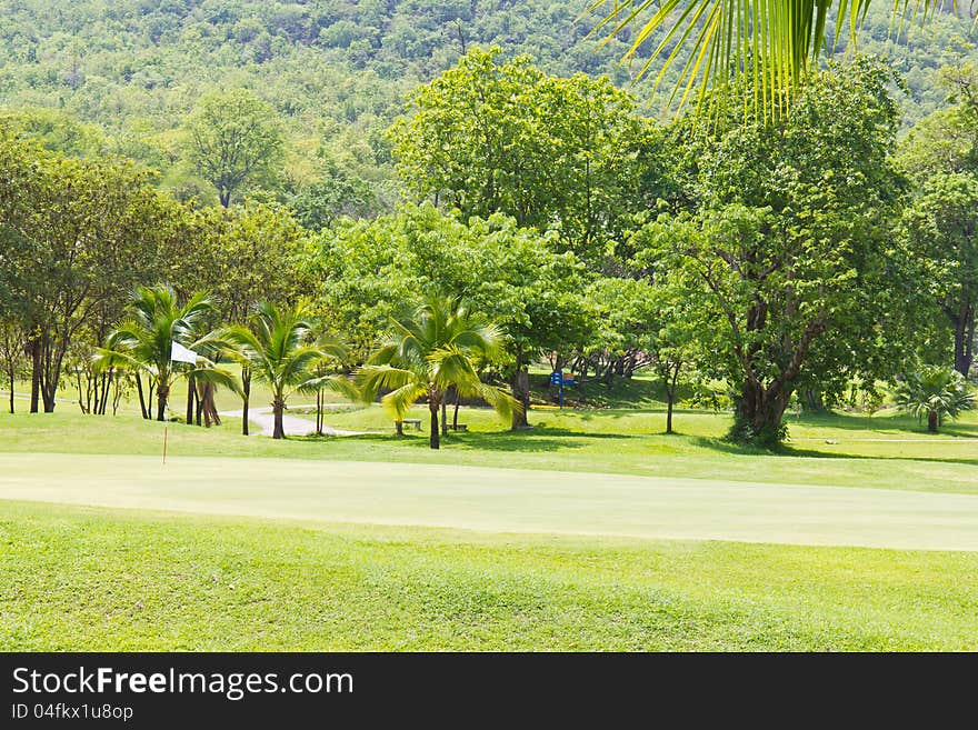
[[[974,650],[978,553],[0,503],[3,650]]]

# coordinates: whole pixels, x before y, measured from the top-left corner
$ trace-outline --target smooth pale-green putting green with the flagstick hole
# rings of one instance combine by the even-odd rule
[[[742,479],[742,474],[738,474]],[[978,497],[443,464],[0,454],[0,499],[447,527],[978,551]]]

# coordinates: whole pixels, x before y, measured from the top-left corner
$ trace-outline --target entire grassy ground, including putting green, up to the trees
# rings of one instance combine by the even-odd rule
[[[440,452],[173,424],[166,466],[159,423],[0,417],[0,649],[978,649],[974,417],[772,456],[720,414],[462,413]]]

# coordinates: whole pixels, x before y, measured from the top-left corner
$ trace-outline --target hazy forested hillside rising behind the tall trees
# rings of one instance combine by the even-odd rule
[[[396,198],[385,131],[407,92],[472,46],[530,54],[542,70],[608,74],[659,114],[651,79],[635,83],[578,19],[580,2],[545,0],[7,0],[0,2],[0,107],[49,147],[121,153],[162,173],[162,187],[212,194],[181,154],[182,124],[206,92],[248,88],[281,120],[287,162],[251,194],[289,199],[328,181],[338,212],[371,213]],[[935,71],[974,53],[970,21],[945,16],[892,40],[875,3],[860,50],[886,53],[907,82],[905,122],[941,104]],[[838,51],[837,51],[838,52]],[[261,193],[259,188],[263,188]]]

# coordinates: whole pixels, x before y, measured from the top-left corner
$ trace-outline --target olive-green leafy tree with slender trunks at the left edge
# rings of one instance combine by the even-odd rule
[[[177,203],[124,160],[76,160],[0,133],[0,273],[29,334],[31,412],[54,410],[72,340],[96,317],[117,318],[132,287],[159,273]]]

